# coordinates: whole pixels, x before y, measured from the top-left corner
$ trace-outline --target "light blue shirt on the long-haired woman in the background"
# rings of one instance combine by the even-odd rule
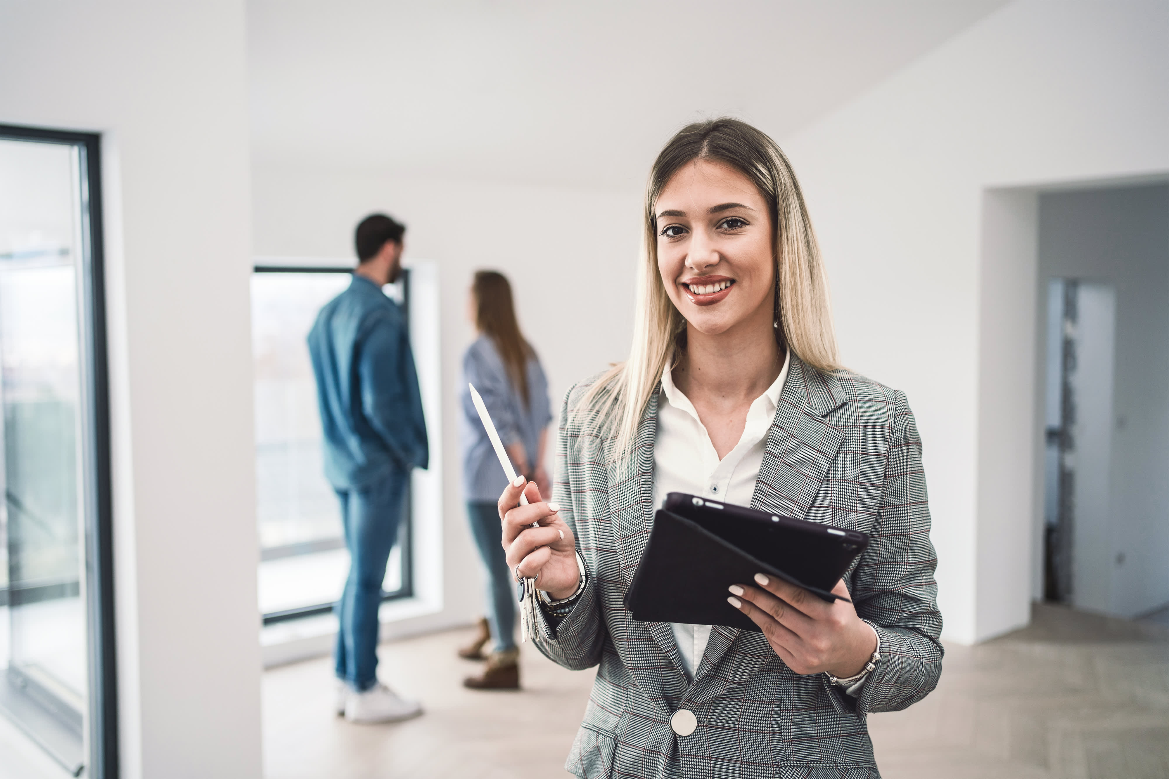
[[[507,369],[496,342],[490,335],[480,335],[463,355],[463,381],[459,383],[459,401],[463,413],[459,424],[459,443],[463,450],[463,495],[469,501],[494,503],[507,486],[507,477],[499,466],[479,415],[471,402],[468,382],[483,396],[483,404],[499,431],[504,446],[520,443],[527,461],[537,464],[540,431],[552,422],[548,403],[548,380],[540,361],[534,356],[527,361],[527,397],[525,405],[519,390],[512,387]],[[514,464],[512,464],[514,465]]]

